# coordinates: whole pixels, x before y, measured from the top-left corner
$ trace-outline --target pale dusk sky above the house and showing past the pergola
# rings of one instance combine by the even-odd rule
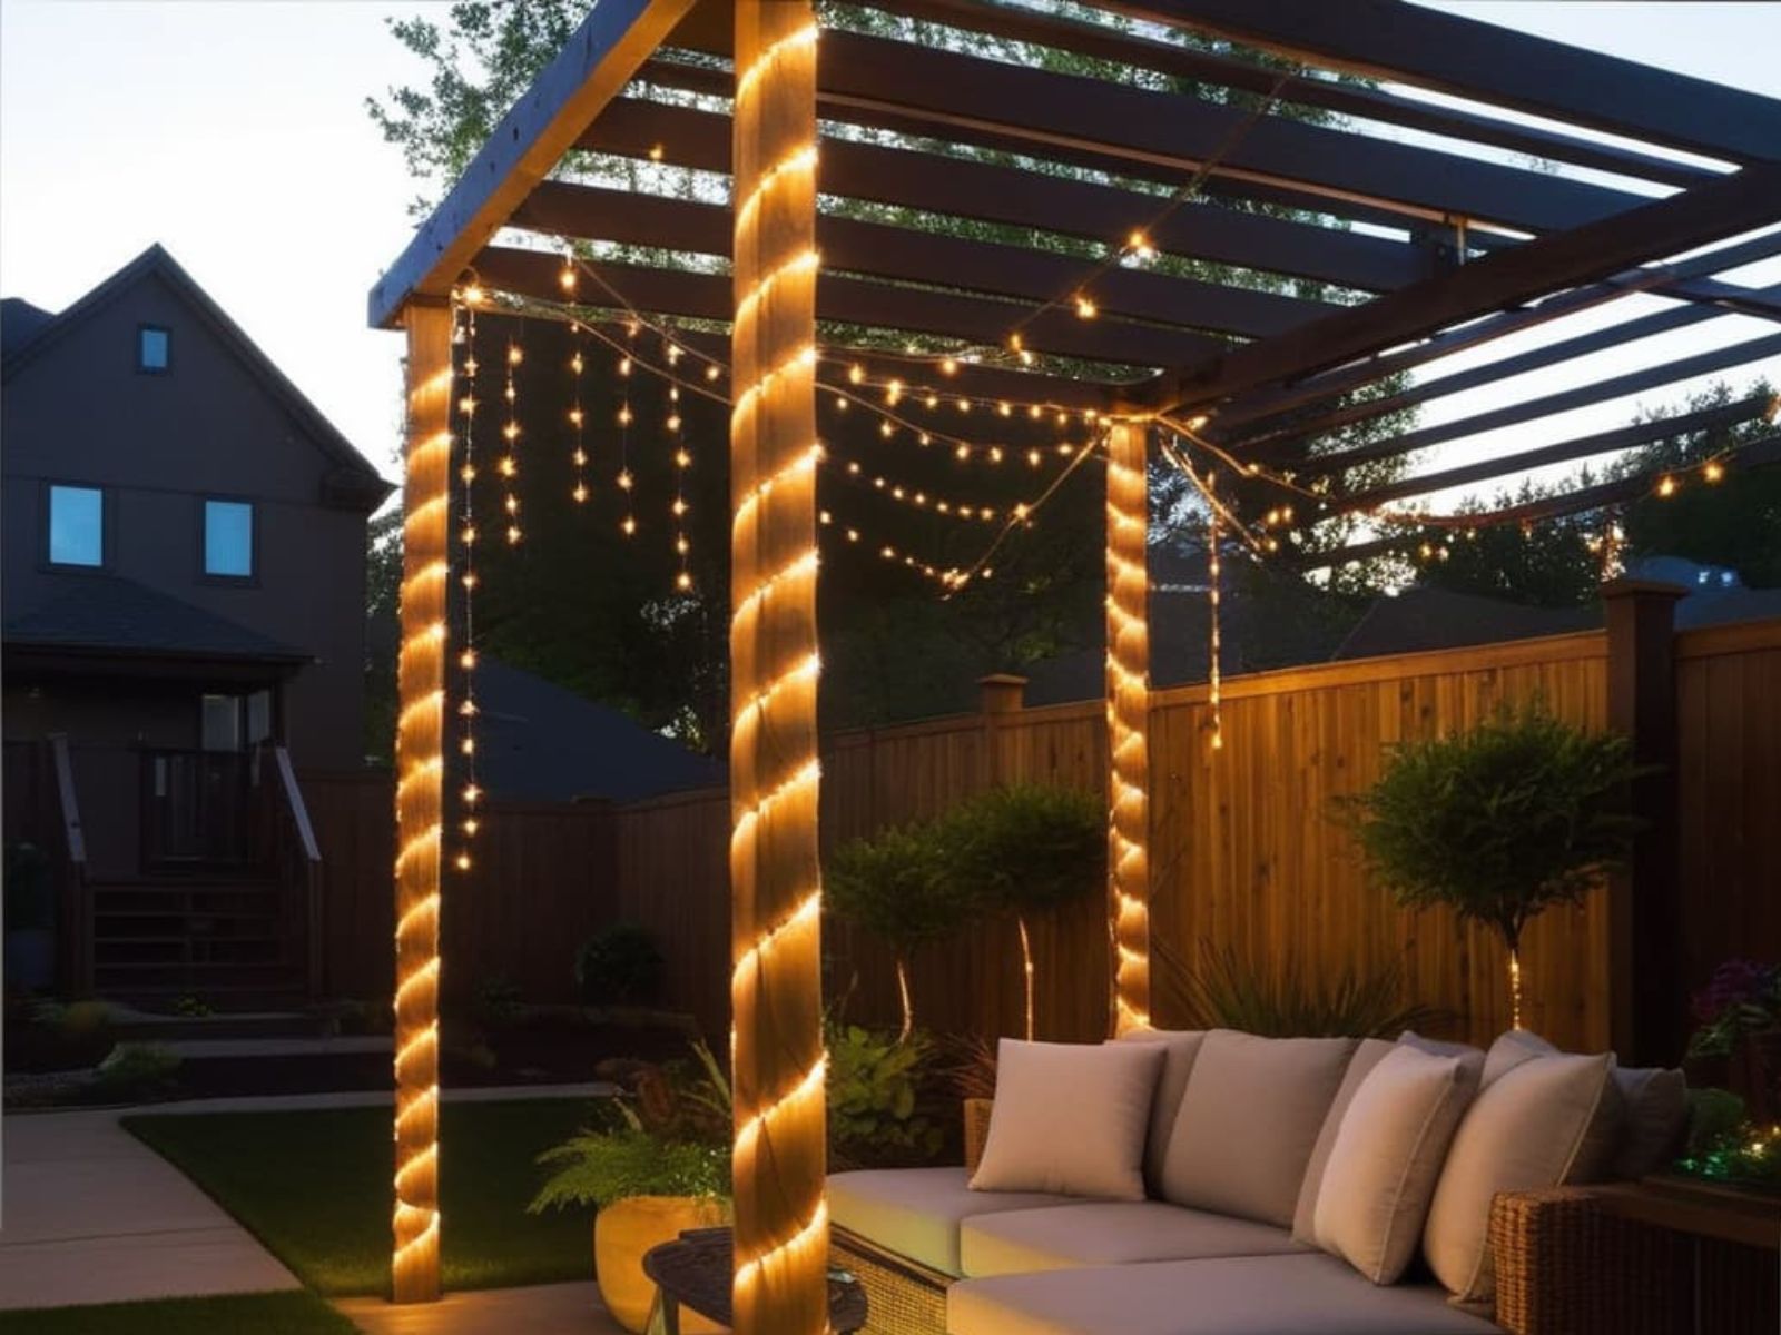
[[[1435,7],[1781,96],[1781,5]],[[159,240],[395,477],[401,338],[365,328],[365,294],[411,233],[417,187],[363,103],[422,75],[386,20],[443,21],[445,9],[443,0],[0,0],[0,294],[59,310]],[[1781,283],[1781,260],[1728,278]],[[1630,297],[1612,319],[1665,304]],[[1532,340],[1592,319],[1603,317]],[[1583,370],[1615,374],[1770,331],[1772,322],[1728,317]],[[1494,344],[1487,356],[1525,342]],[[1450,358],[1441,372],[1464,365]],[[1781,360],[1738,381],[1756,372],[1781,383]],[[1576,374],[1453,395],[1423,422],[1562,388]],[[1678,402],[1690,388],[1478,436],[1432,452],[1425,466],[1621,425],[1635,408]]]

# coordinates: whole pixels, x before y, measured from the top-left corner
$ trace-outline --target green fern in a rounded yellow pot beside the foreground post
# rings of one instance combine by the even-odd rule
[[[600,1299],[629,1331],[643,1331],[655,1285],[643,1257],[687,1228],[728,1223],[730,1086],[711,1048],[696,1043],[698,1075],[643,1066],[632,1089],[604,1100],[597,1125],[547,1150],[552,1168],[527,1207],[593,1205],[593,1274]],[[682,1331],[718,1331],[693,1314]]]

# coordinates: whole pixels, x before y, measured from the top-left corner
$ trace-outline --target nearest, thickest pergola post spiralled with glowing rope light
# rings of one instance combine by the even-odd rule
[[[816,844],[816,18],[736,5],[730,981],[737,1335],[828,1330]]]

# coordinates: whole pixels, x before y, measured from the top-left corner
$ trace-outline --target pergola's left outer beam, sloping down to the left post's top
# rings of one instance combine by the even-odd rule
[[[693,0],[600,0],[593,7],[370,288],[374,329],[395,324],[410,301],[443,301],[470,258],[691,7]]]

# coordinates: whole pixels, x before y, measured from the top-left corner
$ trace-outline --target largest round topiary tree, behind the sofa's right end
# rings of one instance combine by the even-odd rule
[[[1521,933],[1626,860],[1639,829],[1628,783],[1642,773],[1619,733],[1583,732],[1539,701],[1503,705],[1471,732],[1396,746],[1338,810],[1398,904],[1446,904],[1503,938],[1519,1029]]]

